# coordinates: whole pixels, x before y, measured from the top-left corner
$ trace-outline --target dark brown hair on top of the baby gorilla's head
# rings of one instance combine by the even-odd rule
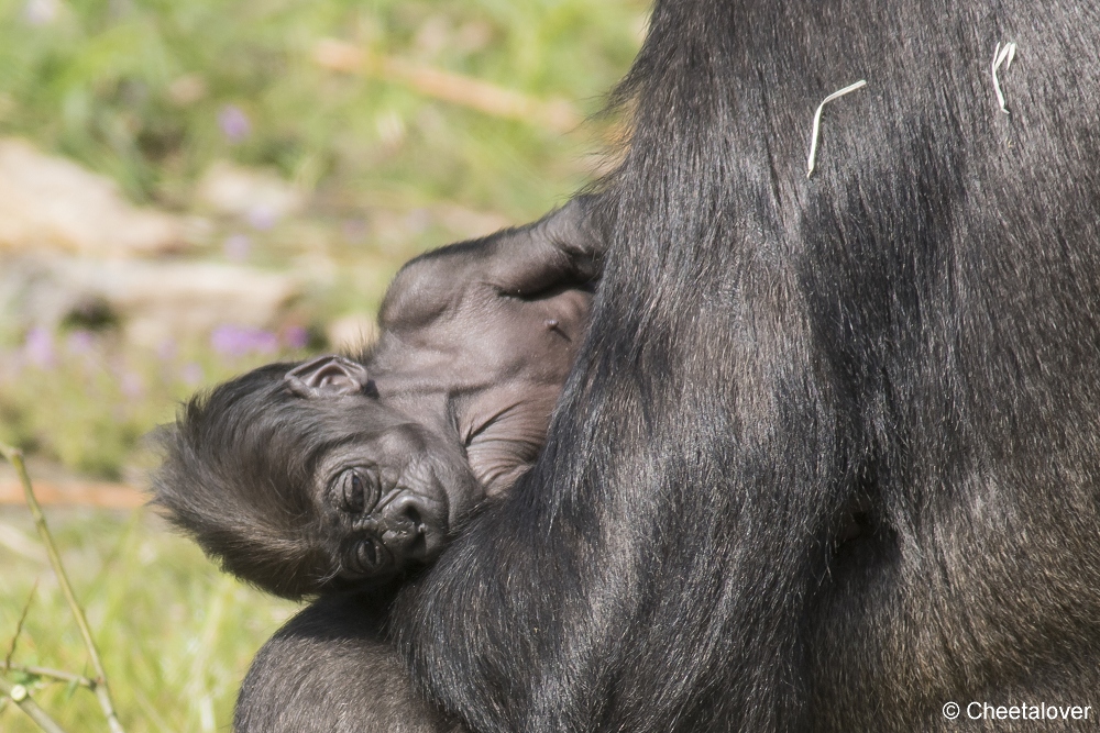
[[[285,388],[294,366],[270,364],[185,404],[158,434],[167,458],[154,481],[154,501],[226,570],[288,598],[330,579],[302,487],[350,430],[332,406],[304,409]]]

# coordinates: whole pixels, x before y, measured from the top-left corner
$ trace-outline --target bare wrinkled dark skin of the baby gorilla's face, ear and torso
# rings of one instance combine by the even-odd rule
[[[519,257],[483,246],[447,247],[394,279],[369,367],[323,356],[288,380],[322,385],[378,427],[326,454],[314,497],[338,537],[372,537],[342,559],[344,577],[385,574],[438,555],[451,527],[506,490],[538,456],[547,423],[587,326],[591,264],[561,249]],[[551,245],[554,246],[554,245]],[[381,543],[373,538],[381,538]]]

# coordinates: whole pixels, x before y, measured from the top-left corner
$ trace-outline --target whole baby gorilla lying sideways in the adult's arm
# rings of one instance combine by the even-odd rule
[[[272,364],[193,399],[161,435],[154,503],[287,598],[430,563],[546,441],[600,275],[595,209],[411,260],[356,359]]]

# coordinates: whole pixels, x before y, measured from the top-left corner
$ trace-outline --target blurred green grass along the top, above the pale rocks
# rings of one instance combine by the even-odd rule
[[[35,11],[50,8],[52,11]],[[585,177],[578,136],[498,120],[314,60],[341,38],[583,113],[637,48],[634,0],[0,1],[0,126],[184,207],[213,159],[337,198],[538,214]],[[228,105],[251,133],[219,125]]]

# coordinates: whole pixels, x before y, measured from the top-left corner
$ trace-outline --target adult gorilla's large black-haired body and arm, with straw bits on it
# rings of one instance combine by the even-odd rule
[[[659,1],[591,332],[400,592],[413,679],[482,732],[1094,717],[1097,48],[1080,0]]]

